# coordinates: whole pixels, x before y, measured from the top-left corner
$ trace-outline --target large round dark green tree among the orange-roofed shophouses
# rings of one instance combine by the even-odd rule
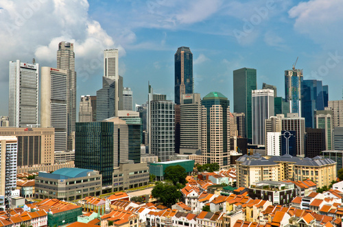
[[[154,189],[152,189],[152,197],[158,199],[163,205],[170,208],[171,205],[176,204],[176,202],[182,198],[182,193],[174,185],[157,183]]]

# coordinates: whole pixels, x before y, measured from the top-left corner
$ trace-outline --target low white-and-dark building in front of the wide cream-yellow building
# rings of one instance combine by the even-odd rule
[[[296,197],[294,183],[260,181],[248,189],[250,198],[269,200],[274,205],[289,205]]]

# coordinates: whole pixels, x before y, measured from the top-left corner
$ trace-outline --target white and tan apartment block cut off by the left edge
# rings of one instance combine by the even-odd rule
[[[16,189],[15,136],[0,136],[0,157],[0,195],[5,195],[7,199]]]

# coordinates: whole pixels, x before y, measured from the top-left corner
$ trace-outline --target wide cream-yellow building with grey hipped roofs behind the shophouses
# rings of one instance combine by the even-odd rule
[[[336,179],[335,161],[321,157],[302,158],[291,155],[262,157],[244,155],[236,160],[237,186],[250,187],[257,181],[302,181],[311,179],[317,187],[330,185]]]

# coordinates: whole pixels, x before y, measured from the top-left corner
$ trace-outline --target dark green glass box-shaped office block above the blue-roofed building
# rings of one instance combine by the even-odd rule
[[[75,168],[98,170],[103,186],[112,185],[113,133],[113,122],[76,123]]]

